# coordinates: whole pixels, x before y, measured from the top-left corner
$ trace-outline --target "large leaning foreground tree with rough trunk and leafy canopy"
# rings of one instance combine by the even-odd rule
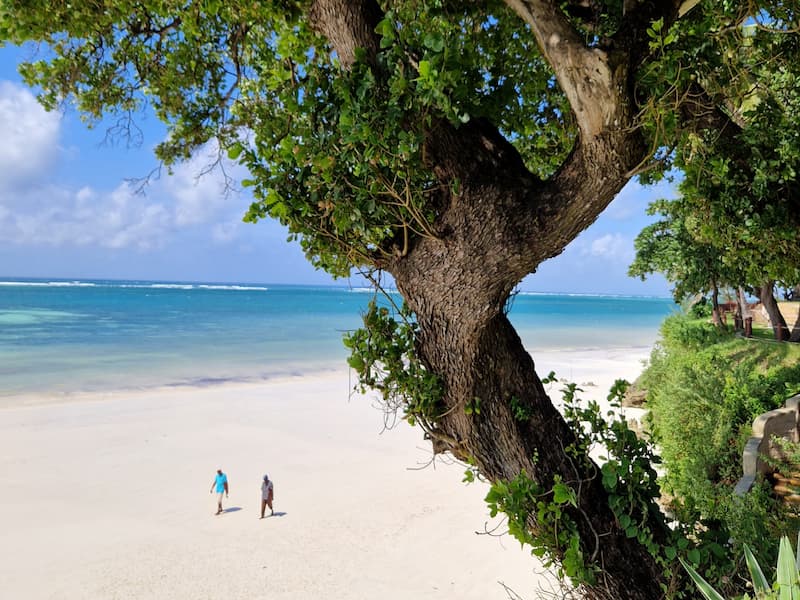
[[[22,68],[46,107],[72,99],[124,130],[150,103],[164,162],[216,138],[251,173],[247,219],[279,219],[333,274],[391,273],[410,320],[367,315],[362,381],[398,393],[437,452],[513,488],[498,504],[519,500],[587,597],[649,600],[670,533],[570,451],[504,307],[634,174],[728,131],[720,51],[753,17],[789,35],[785,4],[4,0],[0,38],[46,44]]]

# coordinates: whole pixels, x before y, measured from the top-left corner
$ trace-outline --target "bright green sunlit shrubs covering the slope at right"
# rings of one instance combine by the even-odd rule
[[[663,459],[662,491],[676,520],[688,525],[699,555],[695,568],[735,591],[737,565],[723,550],[749,544],[770,556],[774,540],[796,527],[770,494],[757,487],[733,495],[742,448],[753,419],[800,390],[800,349],[721,334],[704,321],[675,315],[662,326],[641,379],[651,429]]]

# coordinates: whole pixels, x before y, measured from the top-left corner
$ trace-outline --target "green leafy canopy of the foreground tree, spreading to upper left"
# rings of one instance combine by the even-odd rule
[[[80,6],[8,0],[0,39],[43,42],[21,66],[45,107],[72,101],[91,122],[164,121],[167,165],[217,139],[247,167],[245,220],[286,225],[336,276],[404,254],[458,181],[434,177],[423,141],[437,124],[488,119],[534,174],[575,139],[572,112],[527,26],[501,2],[393,3],[380,51],[340,68],[294,0],[144,0]]]

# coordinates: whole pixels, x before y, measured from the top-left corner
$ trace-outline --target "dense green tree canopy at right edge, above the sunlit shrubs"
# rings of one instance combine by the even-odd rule
[[[740,90],[725,103],[732,123],[677,139],[672,162],[683,173],[681,197],[651,206],[665,218],[639,234],[629,272],[664,273],[676,299],[716,293],[719,285],[757,289],[773,325],[785,330],[772,288],[800,280],[800,73],[797,37],[773,33],[750,22],[740,29],[741,44],[726,52],[727,86]],[[759,41],[765,35],[769,44]]]

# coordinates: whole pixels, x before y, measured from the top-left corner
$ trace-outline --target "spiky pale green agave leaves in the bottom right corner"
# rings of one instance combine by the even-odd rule
[[[756,557],[753,556],[746,544],[744,558],[747,562],[747,569],[750,571],[750,578],[753,580],[755,596],[745,594],[742,600],[800,600],[800,576],[798,576],[798,572],[800,572],[800,535],[798,535],[797,554],[792,550],[789,538],[786,536],[781,538],[778,548],[776,580],[772,585],[767,582],[764,571],[761,570]],[[707,600],[725,600],[722,594],[711,587],[711,584],[703,579],[697,571],[683,559],[680,561]]]

